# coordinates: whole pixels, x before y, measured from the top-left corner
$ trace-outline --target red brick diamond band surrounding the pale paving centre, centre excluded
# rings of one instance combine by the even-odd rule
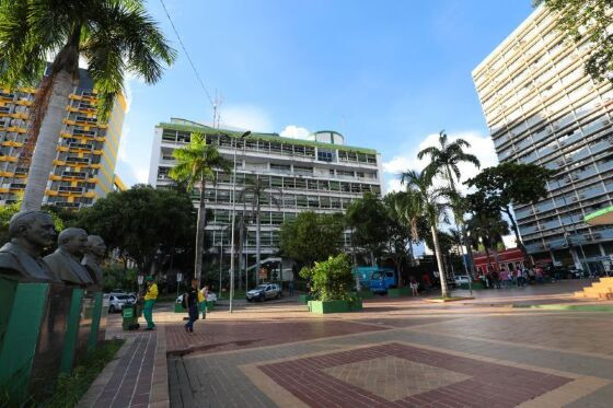
[[[390,401],[323,371],[342,364],[386,355],[428,364],[471,377]],[[258,369],[311,407],[514,407],[572,381],[558,375],[401,343],[298,358],[292,361],[258,365]]]

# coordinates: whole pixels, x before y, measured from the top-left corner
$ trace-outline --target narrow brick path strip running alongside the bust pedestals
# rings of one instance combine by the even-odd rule
[[[95,408],[148,407],[155,347],[155,331],[136,336],[129,349],[120,357],[109,381],[93,406]]]

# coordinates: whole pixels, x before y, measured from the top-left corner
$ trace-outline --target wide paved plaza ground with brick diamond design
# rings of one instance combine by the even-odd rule
[[[589,304],[570,296],[589,283],[479,291],[448,304],[375,298],[361,313],[325,316],[292,301],[240,305],[233,314],[220,307],[196,323],[194,335],[183,330],[183,315],[161,307],[157,336],[165,342],[167,400],[149,404],[611,407],[613,314],[525,307]],[[127,335],[139,345],[142,336],[155,335]],[[147,352],[129,347],[126,355]],[[136,370],[129,364],[124,372]],[[99,394],[108,399],[115,390],[114,404],[99,398],[96,406],[126,401],[122,384],[132,383],[117,375]],[[138,382],[131,406],[146,400]]]

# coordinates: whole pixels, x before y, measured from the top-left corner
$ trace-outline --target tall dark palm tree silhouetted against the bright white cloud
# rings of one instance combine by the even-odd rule
[[[455,188],[455,182],[453,177],[455,176],[460,180],[461,173],[459,164],[461,163],[472,163],[477,168],[481,166],[478,159],[474,154],[465,153],[464,148],[470,148],[471,143],[464,139],[455,139],[449,142],[448,136],[444,130],[439,133],[439,145],[431,145],[421,150],[417,153],[417,158],[421,160],[424,156],[430,158],[430,163],[426,166],[424,172],[428,177],[433,178],[437,175],[442,176],[449,183],[449,189],[451,196],[460,197],[458,189]],[[471,259],[471,271],[474,275],[474,260],[473,250],[470,245],[466,245],[466,229],[464,226],[464,213],[462,206],[459,205],[459,200],[452,202],[453,215],[455,219],[455,226],[458,231],[462,233],[462,242],[466,246],[469,252],[469,257]]]

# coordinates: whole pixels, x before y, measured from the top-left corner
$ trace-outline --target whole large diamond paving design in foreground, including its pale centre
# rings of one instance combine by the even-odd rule
[[[405,364],[410,370],[389,384],[385,380],[393,376],[400,359],[417,364]],[[369,370],[372,360],[392,364]],[[343,375],[348,365],[361,369]],[[398,343],[265,364],[259,370],[311,407],[514,407],[571,381]]]

